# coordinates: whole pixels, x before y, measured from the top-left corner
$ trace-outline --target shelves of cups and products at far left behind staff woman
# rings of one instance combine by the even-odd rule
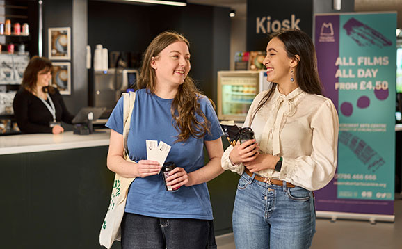
[[[39,1],[0,3],[0,136],[19,134],[13,98],[30,56],[39,51]]]

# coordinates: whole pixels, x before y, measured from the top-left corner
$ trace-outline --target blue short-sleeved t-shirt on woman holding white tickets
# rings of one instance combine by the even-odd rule
[[[176,166],[186,172],[193,172],[204,166],[204,140],[216,140],[223,136],[223,131],[214,108],[205,96],[200,96],[198,102],[201,110],[211,122],[211,134],[204,138],[190,136],[185,142],[174,143],[179,131],[173,127],[170,107],[173,99],[161,99],[150,94],[146,89],[136,91],[136,102],[127,147],[129,157],[133,161],[147,159],[145,140],[162,140],[171,146],[166,161],[175,162]],[[198,120],[202,120],[197,116]],[[123,133],[123,98],[113,109],[106,127]],[[126,212],[157,218],[196,218],[211,220],[212,208],[209,201],[207,184],[182,186],[176,192],[166,191],[162,174],[134,179],[127,197]]]

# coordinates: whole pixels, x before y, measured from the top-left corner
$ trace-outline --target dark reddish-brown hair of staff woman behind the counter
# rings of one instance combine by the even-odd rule
[[[51,61],[45,57],[33,56],[29,61],[24,71],[24,77],[22,78],[21,87],[25,88],[31,93],[36,92],[36,81],[38,81],[38,72],[45,70],[46,72],[53,71],[53,65]],[[52,86],[46,86],[42,88],[43,92],[54,93]]]

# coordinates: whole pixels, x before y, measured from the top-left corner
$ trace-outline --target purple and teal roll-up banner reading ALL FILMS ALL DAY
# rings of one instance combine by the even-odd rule
[[[337,173],[316,191],[317,217],[394,221],[395,31],[396,13],[314,15],[323,93],[339,114]]]

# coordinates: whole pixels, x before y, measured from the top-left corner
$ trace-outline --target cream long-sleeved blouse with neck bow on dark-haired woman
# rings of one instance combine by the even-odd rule
[[[251,127],[265,154],[282,156],[282,170],[261,170],[257,175],[290,182],[310,191],[330,182],[337,166],[339,120],[332,101],[296,88],[282,95],[278,88],[255,115],[252,115],[267,92],[252,102],[243,127]],[[222,168],[243,174],[244,166],[230,163],[233,147],[225,150]]]

